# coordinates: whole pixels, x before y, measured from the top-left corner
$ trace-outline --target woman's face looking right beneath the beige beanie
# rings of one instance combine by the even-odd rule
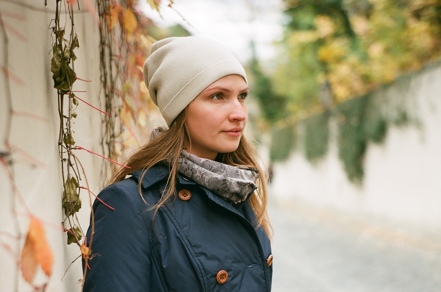
[[[248,111],[248,86],[242,76],[224,76],[209,85],[185,108],[190,144],[187,151],[206,159],[239,146]]]

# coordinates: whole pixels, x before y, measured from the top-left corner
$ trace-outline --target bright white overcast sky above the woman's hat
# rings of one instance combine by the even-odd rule
[[[195,36],[208,37],[224,44],[241,62],[250,59],[250,41],[256,43],[258,57],[268,61],[276,56],[273,42],[282,37],[281,0],[168,0],[161,1],[161,15],[145,1],[142,10],[158,26],[182,24]]]

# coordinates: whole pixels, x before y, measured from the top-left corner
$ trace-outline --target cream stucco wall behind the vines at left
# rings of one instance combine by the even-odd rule
[[[62,178],[60,174],[60,158],[57,141],[59,133],[59,118],[56,89],[53,88],[51,66],[52,31],[49,23],[55,16],[55,1],[2,1],[0,13],[5,23],[5,32],[0,30],[0,65],[8,65],[8,71],[17,76],[9,78],[12,106],[16,112],[38,115],[12,116],[11,135],[9,143],[22,149],[32,156],[24,155],[19,150],[11,152],[13,165],[10,167],[15,174],[15,183],[32,215],[43,220],[46,236],[54,253],[55,265],[49,286],[46,291],[79,291],[78,279],[82,278],[81,261],[78,260],[67,272],[64,280],[61,277],[67,266],[79,254],[75,244],[67,246],[66,234],[62,232],[63,219],[61,209]],[[81,2],[81,1],[80,1]],[[76,50],[78,60],[75,61],[75,71],[82,79],[92,82],[76,81],[74,89],[87,92],[78,93],[82,99],[101,107],[100,72],[99,72],[99,34],[92,17],[82,7],[75,10],[75,28],[80,47]],[[64,22],[64,15],[61,17]],[[12,28],[12,29],[11,29]],[[16,33],[18,32],[19,35]],[[6,52],[8,51],[8,55]],[[0,70],[0,152],[7,151],[4,144],[7,133],[7,78]],[[74,130],[76,145],[101,152],[101,113],[79,101],[78,118]],[[100,157],[85,151],[76,153],[81,159],[90,188],[99,192],[102,186]],[[81,185],[85,185],[82,181]],[[78,216],[84,231],[89,225],[90,208],[86,192],[82,192],[83,208]],[[15,200],[17,213],[11,211],[11,203]],[[19,272],[15,255],[19,255],[24,244],[29,224],[26,208],[17,196],[12,193],[11,181],[7,170],[0,165],[0,291],[15,291],[15,278]],[[15,227],[15,219],[19,230]],[[19,231],[19,232],[18,232]],[[19,236],[17,240],[7,233]],[[41,285],[47,281],[41,271],[37,272],[34,281]],[[32,291],[30,285],[19,277],[19,291]]]

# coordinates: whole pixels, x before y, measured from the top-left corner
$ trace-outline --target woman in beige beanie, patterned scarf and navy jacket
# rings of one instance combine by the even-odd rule
[[[144,80],[169,129],[101,191],[115,210],[95,200],[84,291],[269,292],[266,179],[243,137],[242,65],[215,41],[172,37],[153,44]]]

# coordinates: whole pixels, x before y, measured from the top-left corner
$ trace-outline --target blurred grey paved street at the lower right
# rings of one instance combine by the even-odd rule
[[[273,292],[441,292],[441,241],[270,204]]]

